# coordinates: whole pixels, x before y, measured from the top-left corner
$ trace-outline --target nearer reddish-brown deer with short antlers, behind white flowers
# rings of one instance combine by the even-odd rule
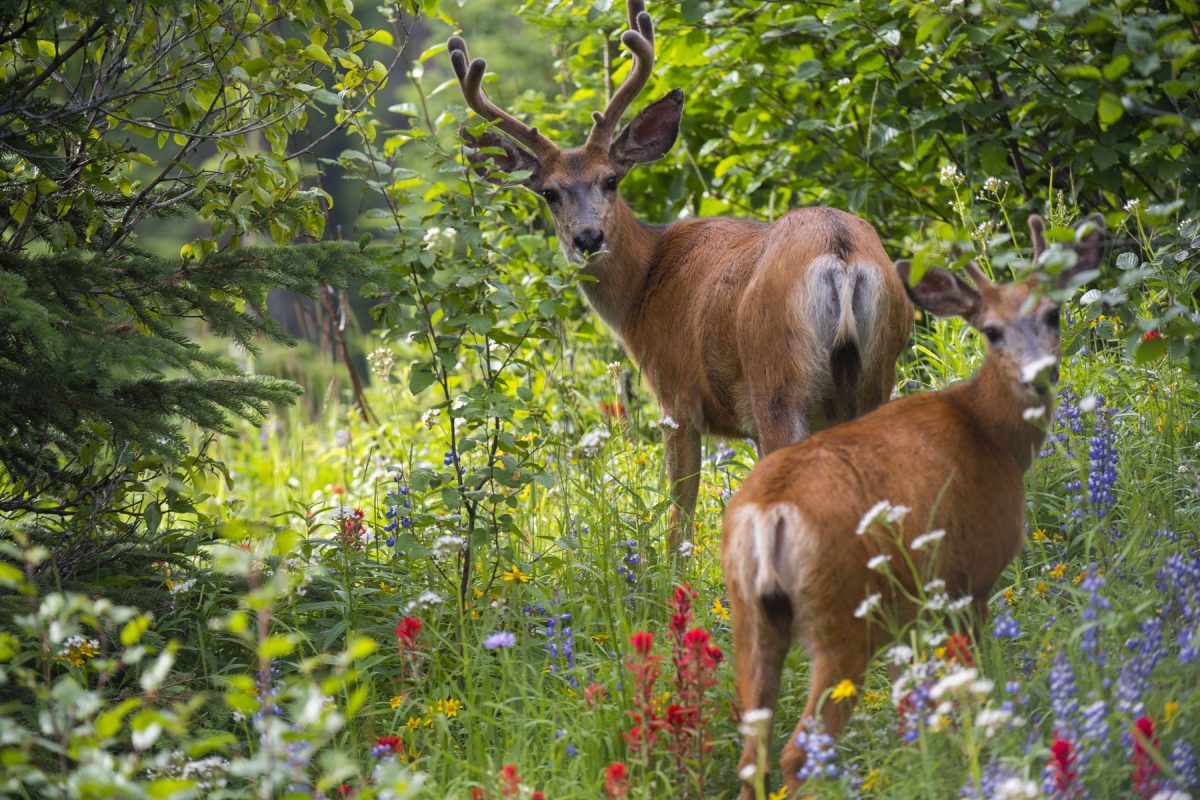
[[[1076,230],[1074,264],[1051,285],[1066,288],[1098,269],[1102,222]],[[1045,252],[1039,216],[1031,216],[1030,229],[1037,264]],[[908,261],[896,263],[906,287],[911,269]],[[880,620],[864,614],[871,604],[860,604],[864,597],[878,594],[877,608],[894,614],[893,622],[902,625],[916,614],[892,581],[900,579],[916,596],[917,577],[898,575],[900,569],[881,575],[869,560],[887,555],[905,564],[902,546],[918,569],[944,582],[950,599],[971,608],[978,626],[992,585],[1021,549],[1024,474],[1054,417],[1060,307],[1036,273],[998,285],[974,261],[966,271],[970,283],[932,266],[908,291],[920,308],[962,317],[983,333],[986,354],[976,375],[895,399],[772,452],[750,471],[725,515],[721,566],[743,715],[752,709],[774,714],[792,644],[802,643],[809,655],[808,702],[781,756],[791,796],[799,796],[797,772],[805,760],[796,736],[818,714],[824,732],[836,736],[853,702],[823,702],[827,693],[845,679],[862,686],[871,658],[890,643]],[[880,501],[910,510],[883,528],[890,537],[881,535],[886,519],[872,523]],[[917,541],[931,530],[930,539],[941,536],[936,557]],[[751,718],[764,716],[758,711]],[[748,776],[764,763],[752,729],[748,724],[739,762],[746,800],[755,796]]]

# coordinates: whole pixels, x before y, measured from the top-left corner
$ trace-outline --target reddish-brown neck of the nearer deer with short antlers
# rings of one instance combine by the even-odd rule
[[[990,354],[962,395],[968,413],[998,451],[996,455],[1008,453],[1025,473],[1054,420],[1054,395],[1031,404]]]

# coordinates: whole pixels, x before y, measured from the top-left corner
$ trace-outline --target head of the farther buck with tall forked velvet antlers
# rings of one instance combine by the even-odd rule
[[[482,90],[487,62],[467,55],[467,43],[454,36],[446,47],[450,64],[462,86],[467,104],[493,121],[494,132],[472,137],[461,131],[476,150],[474,163],[494,157],[505,173],[528,172],[521,181],[540,194],[554,217],[558,240],[568,259],[580,261],[604,251],[612,241],[617,187],[634,164],[661,158],[671,150],[683,116],[683,92],[673,89],[650,103],[613,136],[622,115],[646,86],[654,70],[654,24],[643,0],[628,0],[629,26],[620,41],[634,55],[629,77],[613,92],[602,112],[592,114],[592,133],[581,148],[563,150],[508,112],[497,107]],[[491,151],[491,152],[487,152]],[[498,155],[492,155],[498,154]]]

